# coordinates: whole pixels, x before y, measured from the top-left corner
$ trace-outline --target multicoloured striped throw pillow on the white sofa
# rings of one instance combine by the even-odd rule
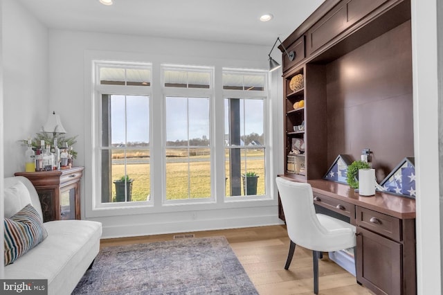
[[[5,266],[33,249],[48,236],[39,213],[30,204],[10,218],[5,218],[4,226]]]

